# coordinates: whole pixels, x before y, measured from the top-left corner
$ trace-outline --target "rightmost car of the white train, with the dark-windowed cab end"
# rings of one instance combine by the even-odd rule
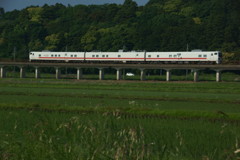
[[[146,52],[146,62],[221,62],[219,51],[192,51],[192,52]]]

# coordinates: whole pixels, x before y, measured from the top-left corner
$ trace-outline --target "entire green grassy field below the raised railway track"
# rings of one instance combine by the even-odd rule
[[[240,83],[0,79],[0,159],[232,160]]]

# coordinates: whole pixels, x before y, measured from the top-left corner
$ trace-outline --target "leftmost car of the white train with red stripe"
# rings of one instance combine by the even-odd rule
[[[30,52],[30,61],[84,61],[85,52]]]

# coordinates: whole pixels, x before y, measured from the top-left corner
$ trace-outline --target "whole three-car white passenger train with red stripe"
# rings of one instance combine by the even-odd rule
[[[214,63],[220,64],[220,51],[191,52],[50,52],[29,53],[30,61],[43,62],[111,62],[111,63]]]

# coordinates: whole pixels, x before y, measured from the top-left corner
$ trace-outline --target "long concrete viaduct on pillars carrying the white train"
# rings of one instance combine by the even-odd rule
[[[216,82],[221,81],[222,71],[240,70],[240,65],[190,65],[190,64],[95,64],[95,63],[33,63],[33,62],[0,62],[0,78],[6,77],[5,67],[16,66],[20,68],[20,78],[25,77],[25,68],[35,68],[35,78],[40,78],[40,68],[53,67],[56,70],[56,79],[60,78],[60,68],[69,67],[77,69],[77,79],[82,78],[83,68],[98,68],[99,80],[104,79],[104,68],[115,68],[116,79],[122,79],[123,69],[139,69],[141,71],[140,79],[143,81],[146,79],[146,70],[148,69],[164,69],[166,70],[166,81],[171,80],[171,71],[177,69],[189,69],[194,72],[194,81],[198,81],[198,73],[200,70],[210,69],[216,71]]]

